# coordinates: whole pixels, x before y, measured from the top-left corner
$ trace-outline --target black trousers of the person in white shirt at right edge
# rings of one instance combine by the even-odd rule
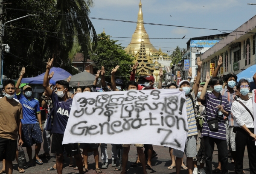
[[[250,132],[254,134],[254,128],[250,129]],[[253,138],[250,137],[250,135],[245,132],[244,129],[238,127],[236,131],[236,174],[243,173],[245,146],[247,146],[250,174],[256,174],[255,141],[253,141]]]

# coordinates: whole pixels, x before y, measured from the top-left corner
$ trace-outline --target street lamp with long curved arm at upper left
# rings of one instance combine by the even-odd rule
[[[36,14],[28,14],[28,15],[26,15],[26,16],[19,17],[19,18],[16,18],[16,19],[14,19],[14,20],[9,20],[9,21],[5,22],[5,23],[3,24],[3,26],[2,26],[2,36],[4,36],[4,27],[5,27],[5,25],[6,25],[7,23],[13,22],[13,21],[15,21],[15,20],[20,20],[20,19],[22,19],[22,18],[24,18],[24,17],[29,17],[29,16],[38,16],[38,15],[36,15]],[[2,41],[2,38],[0,38],[0,41]],[[3,44],[3,45],[2,45],[2,51],[0,51],[0,58],[1,58],[1,60],[0,60],[1,85],[3,85],[3,46],[5,46],[5,52],[6,52],[6,53],[9,53],[9,51],[10,51],[10,47],[9,47],[8,44]]]

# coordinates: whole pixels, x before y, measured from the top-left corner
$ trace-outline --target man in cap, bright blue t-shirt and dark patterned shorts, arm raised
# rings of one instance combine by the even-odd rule
[[[34,160],[38,164],[43,164],[42,160],[38,157],[41,149],[42,138],[42,122],[39,101],[32,97],[32,88],[29,85],[23,87],[23,95],[20,92],[20,83],[25,74],[25,67],[20,72],[20,78],[15,85],[16,95],[23,108],[22,123],[22,140],[23,147],[26,147],[29,156],[29,166],[33,166],[32,160],[32,146],[35,144],[35,157]],[[38,121],[37,121],[38,119]],[[38,123],[39,122],[39,123]]]

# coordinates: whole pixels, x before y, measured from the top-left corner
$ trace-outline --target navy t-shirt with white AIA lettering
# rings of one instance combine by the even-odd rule
[[[64,134],[73,99],[63,101],[54,92],[52,92],[51,98],[54,106],[52,109],[52,133]]]

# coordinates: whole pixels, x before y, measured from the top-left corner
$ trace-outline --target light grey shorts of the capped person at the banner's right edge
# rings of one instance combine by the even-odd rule
[[[186,157],[196,157],[196,137],[197,135],[187,137],[185,145]],[[176,157],[182,158],[183,154],[184,152],[182,152],[181,150],[173,149],[173,155],[175,155]]]

